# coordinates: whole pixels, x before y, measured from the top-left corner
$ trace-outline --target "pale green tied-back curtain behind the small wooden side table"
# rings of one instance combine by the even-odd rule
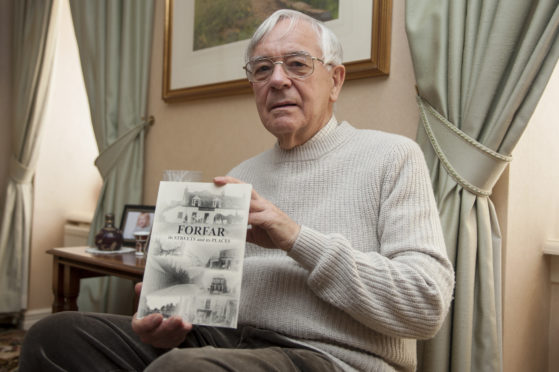
[[[99,148],[95,165],[103,178],[90,246],[106,213],[114,213],[118,225],[124,205],[142,201],[153,5],[152,0],[70,0]],[[111,280],[123,287],[113,286],[114,298],[133,296],[129,283]]]

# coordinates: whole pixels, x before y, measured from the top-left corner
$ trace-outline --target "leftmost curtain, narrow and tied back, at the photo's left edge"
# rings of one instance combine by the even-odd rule
[[[18,0],[13,6],[13,148],[0,227],[0,313],[27,308],[32,182],[54,61],[58,0]]]

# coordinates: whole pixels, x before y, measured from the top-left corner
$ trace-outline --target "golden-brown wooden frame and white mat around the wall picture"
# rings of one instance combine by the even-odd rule
[[[250,92],[242,69],[248,39],[194,51],[194,1],[165,3],[163,100]],[[346,80],[390,73],[392,1],[339,0],[339,18],[326,22],[344,47]]]

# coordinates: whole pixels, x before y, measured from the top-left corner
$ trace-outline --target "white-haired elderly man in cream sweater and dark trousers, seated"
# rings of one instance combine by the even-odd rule
[[[334,117],[341,61],[334,34],[293,11],[249,45],[277,144],[214,179],[255,190],[238,329],[63,313],[29,332],[21,370],[413,371],[415,339],[447,313],[452,266],[418,146]]]

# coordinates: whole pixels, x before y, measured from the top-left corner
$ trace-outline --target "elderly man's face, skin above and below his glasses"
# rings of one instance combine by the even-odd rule
[[[322,58],[316,33],[307,22],[299,22],[286,34],[288,26],[289,21],[280,21],[256,46],[252,57],[304,51]],[[344,77],[343,66],[329,70],[314,61],[314,72],[305,79],[288,77],[277,64],[267,81],[252,83],[260,120],[278,138],[281,148],[291,149],[305,143],[326,124]]]

